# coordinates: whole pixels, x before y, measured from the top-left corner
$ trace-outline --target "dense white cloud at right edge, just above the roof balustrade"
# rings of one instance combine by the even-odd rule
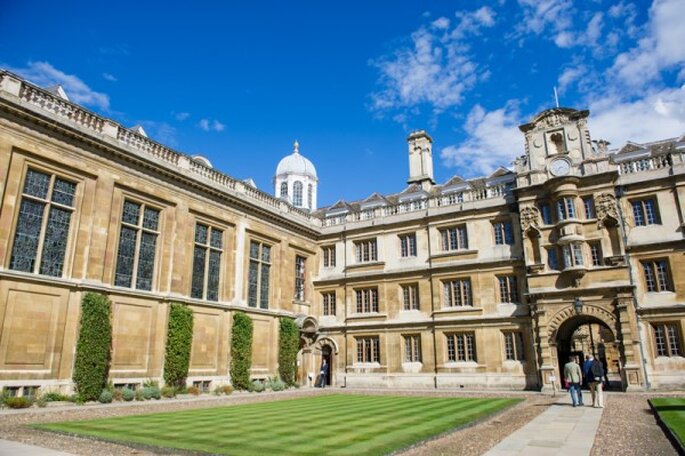
[[[654,91],[634,101],[605,98],[590,104],[589,127],[595,139],[620,147],[685,133],[685,85]]]

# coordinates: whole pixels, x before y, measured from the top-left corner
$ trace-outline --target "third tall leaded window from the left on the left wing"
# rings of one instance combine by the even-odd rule
[[[222,230],[202,223],[195,225],[191,297],[208,301],[219,300],[222,248]]]

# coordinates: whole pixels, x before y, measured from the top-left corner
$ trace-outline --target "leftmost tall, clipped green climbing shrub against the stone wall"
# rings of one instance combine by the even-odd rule
[[[83,400],[95,400],[107,386],[112,355],[112,304],[106,296],[86,293],[76,344],[74,383]]]

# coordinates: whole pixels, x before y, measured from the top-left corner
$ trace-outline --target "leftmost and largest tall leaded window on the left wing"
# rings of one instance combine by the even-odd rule
[[[75,194],[75,183],[28,169],[10,269],[62,276]]]

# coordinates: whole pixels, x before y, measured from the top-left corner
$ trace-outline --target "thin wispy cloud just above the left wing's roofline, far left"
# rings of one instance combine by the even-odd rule
[[[8,68],[41,87],[61,85],[74,103],[109,110],[109,96],[96,92],[73,74],[66,74],[48,62],[29,62],[25,68]]]

